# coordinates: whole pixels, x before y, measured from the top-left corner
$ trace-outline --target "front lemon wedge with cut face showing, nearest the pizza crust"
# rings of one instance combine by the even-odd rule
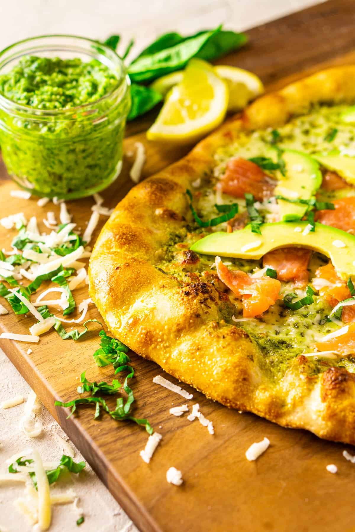
[[[149,140],[192,143],[223,121],[228,105],[228,88],[213,66],[192,59],[181,82],[174,85],[147,131]]]

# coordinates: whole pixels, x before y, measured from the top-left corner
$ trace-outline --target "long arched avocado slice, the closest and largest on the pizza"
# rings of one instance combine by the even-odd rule
[[[204,255],[258,260],[279,247],[306,247],[328,256],[342,278],[355,275],[354,235],[322,223],[316,223],[314,232],[306,228],[307,222],[264,223],[259,235],[249,225],[232,233],[213,232],[190,249]]]

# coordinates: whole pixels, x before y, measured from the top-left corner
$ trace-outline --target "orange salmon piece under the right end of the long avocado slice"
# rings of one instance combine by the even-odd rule
[[[337,275],[331,262],[328,262],[326,266],[318,268],[318,270],[316,270],[316,277],[328,281],[331,285],[320,287],[319,295],[324,297],[332,307],[337,305],[340,301],[344,301],[344,299],[351,297],[346,282]],[[355,305],[343,307],[342,321],[345,323],[355,321]]]

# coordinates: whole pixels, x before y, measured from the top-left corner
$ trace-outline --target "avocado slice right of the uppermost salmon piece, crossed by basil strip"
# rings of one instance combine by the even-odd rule
[[[277,170],[278,185],[275,196],[284,196],[290,200],[310,200],[321,185],[321,172],[315,159],[294,149],[285,149],[282,153],[285,163],[285,176]],[[307,211],[308,206],[301,203],[288,203],[277,200],[280,207],[280,219],[300,220]]]

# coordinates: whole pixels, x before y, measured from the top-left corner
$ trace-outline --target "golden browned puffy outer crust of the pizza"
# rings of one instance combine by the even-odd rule
[[[230,303],[208,282],[180,284],[154,267],[169,233],[191,220],[186,188],[210,173],[213,153],[242,129],[284,124],[317,102],[355,101],[355,66],[332,68],[261,97],[202,140],[184,159],[130,190],[95,244],[89,291],[112,333],[213,400],[286,427],[355,444],[355,376],[314,375],[300,355],[282,380],[246,332],[223,320]]]

